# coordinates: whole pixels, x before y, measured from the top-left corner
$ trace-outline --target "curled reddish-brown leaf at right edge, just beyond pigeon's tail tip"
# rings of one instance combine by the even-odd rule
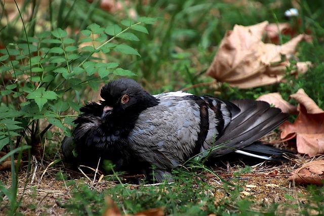
[[[280,138],[296,137],[299,153],[309,156],[324,153],[324,111],[302,89],[291,98],[299,102],[299,115],[294,123],[285,121],[279,126]]]

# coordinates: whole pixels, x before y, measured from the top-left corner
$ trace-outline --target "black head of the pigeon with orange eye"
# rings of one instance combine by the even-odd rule
[[[110,81],[101,89],[100,96],[104,100],[101,102],[104,105],[102,122],[138,116],[141,111],[158,104],[158,99],[143,90],[136,81],[127,78]]]

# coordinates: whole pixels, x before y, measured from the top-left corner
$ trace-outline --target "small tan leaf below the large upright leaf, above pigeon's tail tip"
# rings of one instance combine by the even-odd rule
[[[280,108],[282,112],[285,113],[296,113],[297,107],[291,105],[287,101],[285,101],[279,93],[270,93],[261,95],[257,98],[258,101],[265,101],[269,104],[273,104],[275,107]]]

